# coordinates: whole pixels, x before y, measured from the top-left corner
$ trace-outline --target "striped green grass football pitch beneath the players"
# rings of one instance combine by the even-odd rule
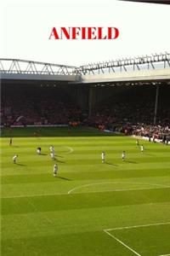
[[[8,132],[1,138],[2,255],[170,255],[169,146],[140,140],[141,154],[132,137],[32,131],[13,131],[12,146]]]

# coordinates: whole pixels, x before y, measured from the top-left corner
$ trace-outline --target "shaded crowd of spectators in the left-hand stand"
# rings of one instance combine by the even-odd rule
[[[13,107],[11,107],[13,106]],[[71,103],[42,101],[13,101],[3,105],[1,124],[10,125],[67,125],[79,120],[82,110]]]

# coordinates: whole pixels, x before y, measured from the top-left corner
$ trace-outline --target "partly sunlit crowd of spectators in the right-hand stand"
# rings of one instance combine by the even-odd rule
[[[99,103],[88,119],[88,125],[123,132],[127,135],[148,137],[164,143],[170,141],[170,105],[168,95],[161,96],[155,119],[155,96],[141,94],[116,96],[104,104]]]

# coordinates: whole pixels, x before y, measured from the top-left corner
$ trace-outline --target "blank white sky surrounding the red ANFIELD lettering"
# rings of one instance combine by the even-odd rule
[[[79,66],[169,51],[170,6],[116,0],[1,1],[0,58]],[[116,40],[49,40],[60,26],[116,26]]]

